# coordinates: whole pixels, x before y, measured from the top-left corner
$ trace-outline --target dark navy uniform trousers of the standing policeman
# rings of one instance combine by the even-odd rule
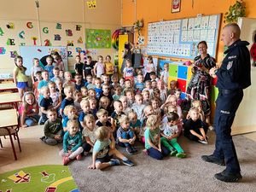
[[[233,124],[236,110],[239,107],[242,97],[242,90],[231,94],[224,94],[219,90],[216,101],[214,116],[216,143],[213,155],[226,161],[226,171],[228,172],[240,172],[236,148],[231,137],[231,125]]]

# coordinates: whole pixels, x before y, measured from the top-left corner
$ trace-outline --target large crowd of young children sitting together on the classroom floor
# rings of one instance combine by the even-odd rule
[[[107,57],[109,64],[110,56]],[[188,115],[183,117],[182,90],[176,88],[176,81],[171,81],[171,89],[167,90],[165,73],[158,79],[151,69],[146,69],[150,79],[145,82],[141,70],[136,77],[125,73],[119,79],[117,73],[106,73],[107,68],[108,72],[113,68],[103,63],[102,56],[98,59],[93,66],[90,57],[84,64],[77,56],[74,80],[72,73],[63,73],[58,67],[52,68],[51,78],[49,71],[36,72],[34,93],[26,92],[20,105],[22,127],[38,121],[44,125],[44,137],[41,137],[44,143],[63,142],[60,152],[63,165],[92,153],[90,169],[119,165],[113,154],[125,165],[133,166],[115,145],[126,148],[127,154],[137,154],[136,140],[145,144],[145,154],[157,160],[168,154],[185,158],[187,154],[177,143],[182,131],[192,141],[207,143],[201,102],[193,101]],[[37,61],[34,59],[35,65]],[[152,62],[152,57],[148,57],[148,62]],[[129,72],[130,60],[126,61],[126,67],[124,71]],[[88,68],[91,74],[84,73]],[[169,71],[168,63],[164,69]]]

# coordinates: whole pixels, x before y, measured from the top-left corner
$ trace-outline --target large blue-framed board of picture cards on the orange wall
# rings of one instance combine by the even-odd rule
[[[220,14],[148,23],[148,55],[194,59],[197,44],[207,42],[207,53],[216,57]]]

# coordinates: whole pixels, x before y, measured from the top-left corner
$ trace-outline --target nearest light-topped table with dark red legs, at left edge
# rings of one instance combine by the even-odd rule
[[[16,129],[14,129],[13,127],[16,127]],[[20,127],[20,124],[18,120],[18,114],[15,109],[0,111],[0,136],[9,136],[9,139],[13,148],[13,152],[15,155],[15,160],[17,160],[17,155],[16,155],[15,145],[13,142],[12,135],[17,138],[19,148],[20,148],[20,139],[18,136],[19,127]],[[21,152],[21,148],[20,148],[20,152]]]

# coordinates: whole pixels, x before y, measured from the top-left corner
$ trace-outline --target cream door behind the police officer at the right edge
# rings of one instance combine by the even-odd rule
[[[241,28],[241,40],[246,40],[250,44],[247,48],[250,50],[253,45],[253,38],[256,33],[256,19],[239,18],[238,25]],[[256,68],[251,67],[252,85],[244,90],[244,96],[236,112],[236,118],[232,127],[232,135],[256,131]]]

